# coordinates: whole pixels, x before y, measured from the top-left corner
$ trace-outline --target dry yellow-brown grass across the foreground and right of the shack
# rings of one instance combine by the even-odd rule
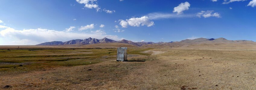
[[[133,53],[140,52],[143,50]],[[133,54],[128,62],[113,58],[97,64],[49,67],[27,73],[2,72],[0,86],[30,90],[256,89],[255,50],[176,48],[150,49],[147,53],[152,55]]]

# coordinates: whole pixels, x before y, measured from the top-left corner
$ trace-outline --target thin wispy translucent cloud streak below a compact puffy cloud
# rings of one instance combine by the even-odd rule
[[[168,18],[191,18],[196,17],[195,14],[181,14],[177,15],[174,13],[149,13],[148,16],[150,19],[168,19]]]

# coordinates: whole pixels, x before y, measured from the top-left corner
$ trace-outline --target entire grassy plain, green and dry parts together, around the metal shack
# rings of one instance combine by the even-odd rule
[[[256,50],[128,48],[0,50],[7,89],[256,89]],[[20,65],[21,64],[21,65]]]

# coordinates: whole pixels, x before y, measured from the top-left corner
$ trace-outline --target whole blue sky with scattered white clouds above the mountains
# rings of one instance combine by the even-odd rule
[[[256,0],[0,0],[0,45],[89,37],[256,41]]]

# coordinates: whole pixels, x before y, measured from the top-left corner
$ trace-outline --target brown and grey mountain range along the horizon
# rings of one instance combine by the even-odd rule
[[[134,46],[148,46],[148,45],[184,45],[184,44],[202,44],[202,43],[238,43],[238,42],[253,42],[253,41],[247,41],[247,40],[236,40],[236,41],[231,41],[227,40],[225,38],[211,38],[211,39],[206,39],[206,38],[197,38],[197,39],[185,39],[182,41],[176,41],[176,42],[132,42],[128,40],[121,40],[121,41],[114,41],[108,38],[102,38],[102,39],[95,39],[95,38],[87,38],[87,39],[75,39],[75,40],[70,40],[66,42],[62,41],[52,41],[52,42],[45,42],[42,44],[37,44],[37,45],[67,45],[67,44],[99,44],[99,43],[123,43],[123,44],[131,44]]]

